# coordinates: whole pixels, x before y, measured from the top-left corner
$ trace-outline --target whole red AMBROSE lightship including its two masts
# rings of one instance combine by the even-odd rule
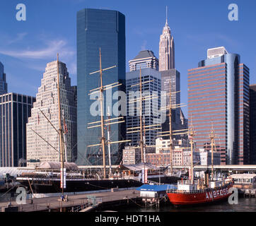
[[[214,131],[211,129],[211,179],[209,180],[209,173],[205,172],[204,179],[194,181],[193,173],[193,141],[194,136],[193,127],[190,127],[189,138],[191,144],[191,167],[190,180],[178,181],[178,188],[167,190],[166,194],[170,203],[174,206],[190,206],[197,204],[214,203],[216,201],[223,201],[232,194],[233,179],[214,179],[213,167],[213,146],[214,146]]]

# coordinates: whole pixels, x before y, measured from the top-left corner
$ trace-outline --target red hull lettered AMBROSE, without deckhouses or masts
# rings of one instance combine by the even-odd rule
[[[221,186],[217,189],[206,189],[201,192],[166,192],[168,195],[170,203],[175,206],[190,206],[199,205],[207,203],[215,203],[218,201],[225,201],[231,193],[228,192],[233,186],[233,183],[227,184],[226,186]]]

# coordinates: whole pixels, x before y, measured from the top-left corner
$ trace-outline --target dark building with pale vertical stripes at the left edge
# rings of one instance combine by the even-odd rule
[[[0,95],[0,167],[18,167],[26,159],[26,123],[35,97]]]

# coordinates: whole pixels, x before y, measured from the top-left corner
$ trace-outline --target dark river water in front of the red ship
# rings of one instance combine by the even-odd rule
[[[117,212],[256,212],[256,198],[238,198],[238,204],[229,204],[228,201],[208,206],[191,206],[175,208],[171,205],[112,209]]]

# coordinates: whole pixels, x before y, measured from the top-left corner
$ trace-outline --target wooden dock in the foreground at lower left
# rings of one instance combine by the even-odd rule
[[[0,203],[2,212],[89,212],[96,209],[121,206],[129,203],[140,203],[139,191],[125,189],[112,190],[91,194],[78,194],[69,196],[67,201],[61,201],[60,197],[31,198],[25,204],[18,205],[16,201]]]

